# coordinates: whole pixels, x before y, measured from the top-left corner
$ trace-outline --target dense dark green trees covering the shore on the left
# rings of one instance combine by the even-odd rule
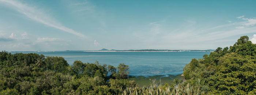
[[[126,87],[138,86],[126,80],[128,69],[124,64],[101,66],[97,61],[74,61],[69,66],[63,57],[2,51],[0,95],[121,94]]]

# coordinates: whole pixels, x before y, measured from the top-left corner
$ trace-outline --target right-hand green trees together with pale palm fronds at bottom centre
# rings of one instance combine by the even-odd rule
[[[129,87],[124,95],[256,95],[256,44],[241,36],[230,48],[218,47],[183,68],[185,81]]]

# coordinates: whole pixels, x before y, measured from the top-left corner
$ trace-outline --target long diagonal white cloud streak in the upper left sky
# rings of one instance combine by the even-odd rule
[[[67,28],[63,25],[61,25],[58,21],[47,15],[47,13],[44,13],[43,11],[36,9],[34,7],[31,7],[29,5],[25,5],[20,3],[19,1],[14,1],[14,0],[0,0],[4,4],[9,5],[11,8],[15,9],[16,11],[22,13],[23,15],[26,15],[30,19],[37,21],[39,23],[48,25],[50,27],[54,27],[57,29],[60,29],[62,31],[72,33],[76,36],[86,38],[85,35],[78,33],[74,31],[73,29]]]

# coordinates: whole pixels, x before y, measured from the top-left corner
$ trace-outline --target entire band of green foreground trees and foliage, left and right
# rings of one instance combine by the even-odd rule
[[[139,87],[129,66],[83,63],[63,57],[0,52],[0,95],[255,95],[256,44],[241,36],[183,68],[185,80]]]

